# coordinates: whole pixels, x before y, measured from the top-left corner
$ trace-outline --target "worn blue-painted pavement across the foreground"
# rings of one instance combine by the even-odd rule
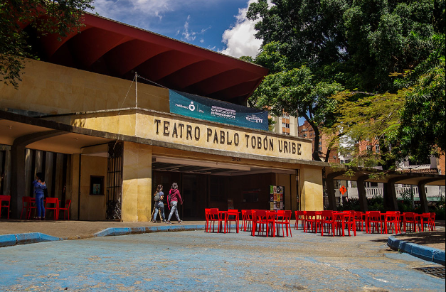
[[[413,269],[439,265],[387,238],[195,231],[17,245],[0,249],[0,291],[445,291]]]

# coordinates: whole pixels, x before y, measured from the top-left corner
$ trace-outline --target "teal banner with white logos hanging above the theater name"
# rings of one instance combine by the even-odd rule
[[[268,112],[169,90],[170,112],[186,117],[268,131]]]

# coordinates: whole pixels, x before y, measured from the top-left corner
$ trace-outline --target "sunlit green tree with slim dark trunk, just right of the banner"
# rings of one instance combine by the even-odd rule
[[[272,74],[267,75],[257,87],[249,99],[250,105],[269,108],[277,116],[282,116],[283,112],[301,115],[314,129],[314,145],[319,145],[319,126],[331,125],[334,121],[336,100],[328,97],[343,88],[336,82],[319,82],[305,65],[289,68],[292,67],[290,62],[280,55],[277,46],[280,45],[267,44],[257,55],[257,63],[272,68]],[[321,161],[318,147],[314,147],[312,156],[314,160]]]

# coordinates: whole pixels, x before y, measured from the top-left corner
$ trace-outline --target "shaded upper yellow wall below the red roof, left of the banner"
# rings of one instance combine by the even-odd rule
[[[0,108],[67,114],[136,106],[132,81],[37,60],[23,72],[19,90],[0,83]],[[169,112],[169,90],[138,83],[138,107]]]

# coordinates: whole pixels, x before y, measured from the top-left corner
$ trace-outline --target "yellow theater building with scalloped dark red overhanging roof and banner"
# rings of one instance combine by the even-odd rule
[[[326,164],[311,140],[273,134],[267,113],[244,107],[267,69],[100,16],[84,23],[62,41],[23,26],[40,60],[18,89],[0,85],[11,217],[38,171],[75,220],[149,221],[156,185],[174,182],[186,219],[205,207],[323,209]]]

